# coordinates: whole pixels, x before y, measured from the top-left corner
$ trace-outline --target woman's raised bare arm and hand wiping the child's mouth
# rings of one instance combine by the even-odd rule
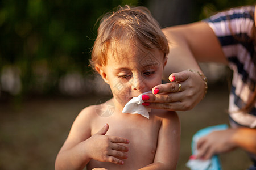
[[[256,14],[254,13],[254,21]],[[255,22],[254,22],[255,23]],[[203,71],[197,62],[215,62],[228,64],[212,29],[205,22],[195,22],[175,27],[167,27],[162,30],[170,40],[170,53],[167,58],[167,66],[163,71],[163,79],[166,83],[155,86],[159,90],[158,95],[150,94],[149,108],[168,109],[169,111],[188,111],[195,107],[205,95],[205,84],[196,73],[188,69]],[[256,37],[255,37],[256,38]],[[173,81],[173,77],[175,80]],[[181,90],[179,84],[181,82]]]

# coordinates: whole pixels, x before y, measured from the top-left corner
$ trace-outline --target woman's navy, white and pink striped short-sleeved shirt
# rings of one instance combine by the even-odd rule
[[[229,96],[230,125],[250,128],[256,128],[256,103],[249,113],[240,109],[253,95],[256,83],[256,46],[251,39],[254,9],[255,6],[232,8],[204,20],[216,34],[233,70]]]

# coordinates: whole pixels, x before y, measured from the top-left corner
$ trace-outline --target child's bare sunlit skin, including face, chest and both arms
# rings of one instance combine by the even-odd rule
[[[109,117],[101,117],[95,106],[81,111],[59,152],[58,165],[70,169],[82,169],[85,165],[87,169],[176,168],[180,142],[177,114],[152,109],[147,119],[139,114],[122,113],[123,106],[132,97],[151,91],[161,83],[166,63],[163,53],[143,51],[122,45],[114,53],[118,57],[113,57],[110,50],[106,65],[96,65],[113,92],[110,101],[114,103],[114,112]],[[108,102],[102,104],[102,109],[108,109]]]

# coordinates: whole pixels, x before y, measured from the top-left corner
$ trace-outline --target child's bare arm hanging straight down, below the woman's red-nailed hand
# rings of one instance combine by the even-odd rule
[[[163,116],[162,116],[163,115]],[[142,169],[176,169],[180,152],[180,122],[176,112],[159,114],[163,118],[158,134],[154,163]]]

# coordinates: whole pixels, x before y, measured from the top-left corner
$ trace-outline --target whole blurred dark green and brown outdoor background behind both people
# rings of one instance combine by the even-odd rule
[[[96,20],[102,14],[118,5],[142,5],[151,10],[162,27],[168,27],[253,3],[0,1],[0,169],[54,169],[57,152],[77,114],[102,97],[109,97],[109,91],[88,66],[97,36]],[[207,96],[192,111],[179,112],[181,152],[177,169],[186,169],[192,135],[197,130],[228,124],[230,73],[223,66],[207,68]],[[224,170],[245,169],[250,164],[241,150],[221,155],[221,162]]]

